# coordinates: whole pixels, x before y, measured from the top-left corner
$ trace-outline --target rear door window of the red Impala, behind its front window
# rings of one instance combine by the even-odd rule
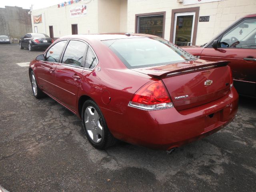
[[[88,45],[81,41],[71,40],[64,53],[62,63],[73,66],[81,66],[84,52]]]

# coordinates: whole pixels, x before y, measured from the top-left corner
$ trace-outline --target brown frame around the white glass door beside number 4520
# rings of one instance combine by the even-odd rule
[[[181,9],[172,9],[172,17],[171,17],[171,31],[170,31],[170,42],[173,42],[174,35],[174,20],[176,13],[186,13],[186,12],[195,12],[195,22],[194,22],[194,30],[193,30],[193,39],[192,45],[196,45],[196,34],[197,34],[197,26],[198,26],[198,18],[199,18],[199,9],[200,7],[190,7],[190,8],[181,8]]]

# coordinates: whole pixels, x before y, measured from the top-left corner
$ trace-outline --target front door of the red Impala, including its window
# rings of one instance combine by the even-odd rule
[[[40,88],[55,98],[57,97],[55,90],[55,70],[56,65],[60,62],[60,55],[66,42],[67,40],[62,40],[54,44],[46,52],[46,60],[36,63],[35,72]]]

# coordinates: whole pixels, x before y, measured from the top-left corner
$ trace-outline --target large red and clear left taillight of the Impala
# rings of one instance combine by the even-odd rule
[[[154,110],[173,107],[172,101],[161,80],[150,81],[133,96],[130,106]]]

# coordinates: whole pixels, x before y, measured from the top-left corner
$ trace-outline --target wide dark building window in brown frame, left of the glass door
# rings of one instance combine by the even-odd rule
[[[164,15],[138,16],[138,33],[163,37]]]

